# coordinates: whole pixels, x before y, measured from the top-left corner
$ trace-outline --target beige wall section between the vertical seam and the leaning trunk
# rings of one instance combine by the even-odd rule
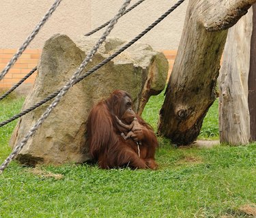
[[[136,1],[131,1],[133,4]],[[146,0],[131,12],[122,17],[111,35],[132,40],[141,31],[164,14],[177,0]],[[186,14],[185,1],[177,7],[165,20],[162,20],[152,31],[143,36],[142,43],[150,44],[156,50],[177,50]],[[120,1],[91,1],[91,27],[98,27],[109,20],[119,8]],[[96,35],[99,35],[96,34]]]

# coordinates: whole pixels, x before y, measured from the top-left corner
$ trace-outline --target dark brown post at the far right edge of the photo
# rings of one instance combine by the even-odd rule
[[[250,111],[251,141],[256,141],[256,5],[253,5],[253,34],[251,37],[248,105]]]

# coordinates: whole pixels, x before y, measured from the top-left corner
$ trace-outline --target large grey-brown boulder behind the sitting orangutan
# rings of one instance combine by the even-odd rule
[[[47,40],[38,65],[38,77],[23,109],[61,88],[95,42],[80,37],[74,43],[67,35],[59,34]],[[124,41],[116,38],[106,40],[87,69],[109,57],[122,44]],[[145,44],[135,44],[74,85],[20,151],[18,159],[33,165],[87,160],[85,122],[91,107],[115,89],[123,89],[132,95],[134,110],[141,113],[150,95],[156,95],[165,88],[167,72],[168,62],[162,53]],[[44,104],[20,119],[12,135],[12,146],[27,134],[47,106]]]

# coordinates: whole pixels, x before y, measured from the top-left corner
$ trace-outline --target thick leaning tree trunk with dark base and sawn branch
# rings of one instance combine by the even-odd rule
[[[256,0],[190,0],[158,134],[175,144],[190,144],[199,135],[203,118],[216,99],[216,80],[227,29]]]

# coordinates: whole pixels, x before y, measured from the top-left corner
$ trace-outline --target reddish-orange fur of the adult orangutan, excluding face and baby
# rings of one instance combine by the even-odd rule
[[[114,91],[111,96],[99,102],[91,109],[87,119],[87,145],[93,159],[98,161],[100,168],[117,168],[130,166],[131,168],[156,169],[154,155],[158,142],[152,127],[136,115],[143,127],[143,140],[138,155],[137,143],[132,139],[124,140],[119,131],[115,116],[122,117],[119,110],[122,99],[130,97],[121,90]]]

